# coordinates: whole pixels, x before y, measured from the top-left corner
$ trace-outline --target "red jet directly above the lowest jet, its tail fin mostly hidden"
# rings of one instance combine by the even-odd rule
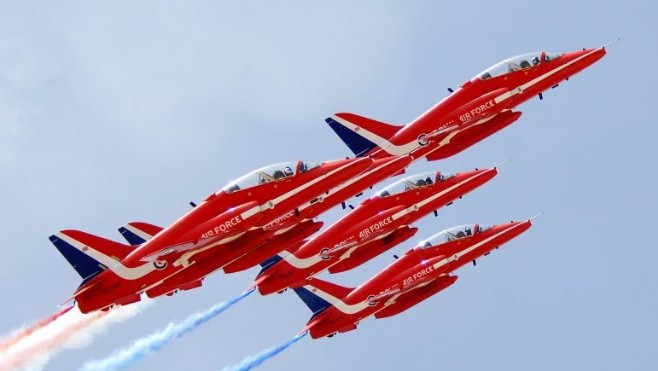
[[[325,270],[355,268],[413,236],[409,225],[486,183],[496,168],[456,175],[423,173],[399,180],[363,201],[352,212],[296,251],[264,263],[254,286],[262,295],[301,286]]]

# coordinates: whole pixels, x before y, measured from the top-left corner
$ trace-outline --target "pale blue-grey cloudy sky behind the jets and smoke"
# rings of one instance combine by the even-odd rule
[[[355,3],[0,1],[0,333],[79,284],[48,241],[58,230],[119,240],[125,222],[168,225],[254,168],[351,155],[324,123],[332,113],[403,124],[504,58],[621,37],[514,125],[414,164],[409,174],[512,159],[412,240],[329,279],[356,286],[458,224],[544,211],[532,229],[417,307],[303,339],[263,369],[655,369],[655,2]],[[104,357],[235,296],[256,272],[158,300],[49,368]],[[309,317],[291,293],[255,294],[137,369],[221,369]]]

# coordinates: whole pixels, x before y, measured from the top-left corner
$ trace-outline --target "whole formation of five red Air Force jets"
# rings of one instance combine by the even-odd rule
[[[351,113],[326,119],[354,153],[344,160],[277,163],[249,172],[167,227],[131,222],[127,244],[78,230],[50,241],[82,278],[74,292],[83,313],[202,286],[208,275],[260,265],[252,286],[262,295],[292,289],[313,315],[305,330],[321,338],[353,330],[366,318],[396,315],[446,289],[454,272],[519,236],[531,220],[446,229],[420,242],[356,288],[316,276],[354,269],[418,232],[413,224],[497,175],[497,168],[406,176],[375,192],[321,231],[318,220],[346,200],[406,172],[413,162],[453,156],[512,124],[515,108],[568,80],[606,47],[529,53],[466,81],[406,125]]]

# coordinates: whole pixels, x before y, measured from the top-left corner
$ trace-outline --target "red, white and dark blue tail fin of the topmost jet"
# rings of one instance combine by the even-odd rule
[[[325,119],[356,157],[364,157],[373,149],[384,148],[402,126],[386,124],[353,113],[337,113]]]

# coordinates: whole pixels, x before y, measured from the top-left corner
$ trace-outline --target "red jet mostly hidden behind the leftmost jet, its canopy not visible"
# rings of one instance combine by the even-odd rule
[[[154,298],[163,294],[171,295],[180,290],[194,289],[202,285],[206,276],[219,269],[225,273],[249,269],[290,246],[299,246],[301,241],[322,227],[323,223],[314,221],[313,218],[402,171],[410,162],[410,156],[375,160],[367,171],[306,202],[294,211],[259,229],[248,231],[221,248],[199,253],[194,257],[195,264],[168,277],[161,284],[147,290],[146,294]],[[119,231],[131,244],[142,244],[155,235],[159,227],[137,222],[119,228]]]

